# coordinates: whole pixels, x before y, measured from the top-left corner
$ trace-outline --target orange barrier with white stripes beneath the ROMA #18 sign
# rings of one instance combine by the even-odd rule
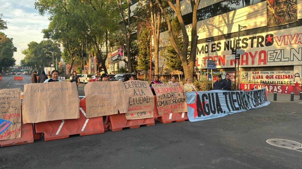
[[[155,103],[155,108],[156,108],[156,96],[154,96],[154,103]],[[182,122],[185,120],[189,120],[187,112],[182,112],[182,113],[169,113],[169,114],[162,114],[159,115],[157,108],[156,111],[154,111],[154,117],[156,121],[159,121],[161,123],[172,123],[173,121],[176,122]]]

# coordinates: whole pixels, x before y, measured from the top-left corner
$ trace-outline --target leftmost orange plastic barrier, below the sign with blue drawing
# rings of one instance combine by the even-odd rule
[[[0,141],[1,147],[34,143],[34,127],[32,123],[21,124],[21,137]]]

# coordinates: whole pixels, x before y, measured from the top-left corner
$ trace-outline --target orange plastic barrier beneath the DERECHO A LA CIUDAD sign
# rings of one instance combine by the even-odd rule
[[[106,122],[105,122],[106,124]],[[136,120],[127,120],[125,114],[115,114],[108,116],[108,128],[111,131],[121,131],[123,128],[139,128],[141,125],[155,125],[153,118],[144,118]]]

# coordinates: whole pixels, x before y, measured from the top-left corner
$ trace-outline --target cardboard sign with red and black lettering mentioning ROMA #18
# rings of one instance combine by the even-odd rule
[[[158,114],[187,112],[187,100],[182,82],[152,84],[156,94]]]

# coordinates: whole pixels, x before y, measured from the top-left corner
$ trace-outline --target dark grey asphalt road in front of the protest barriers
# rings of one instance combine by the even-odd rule
[[[0,148],[0,168],[301,169],[302,149],[265,142],[278,138],[302,143],[301,108],[299,102],[272,102],[206,121],[156,122],[91,136],[36,140]]]

